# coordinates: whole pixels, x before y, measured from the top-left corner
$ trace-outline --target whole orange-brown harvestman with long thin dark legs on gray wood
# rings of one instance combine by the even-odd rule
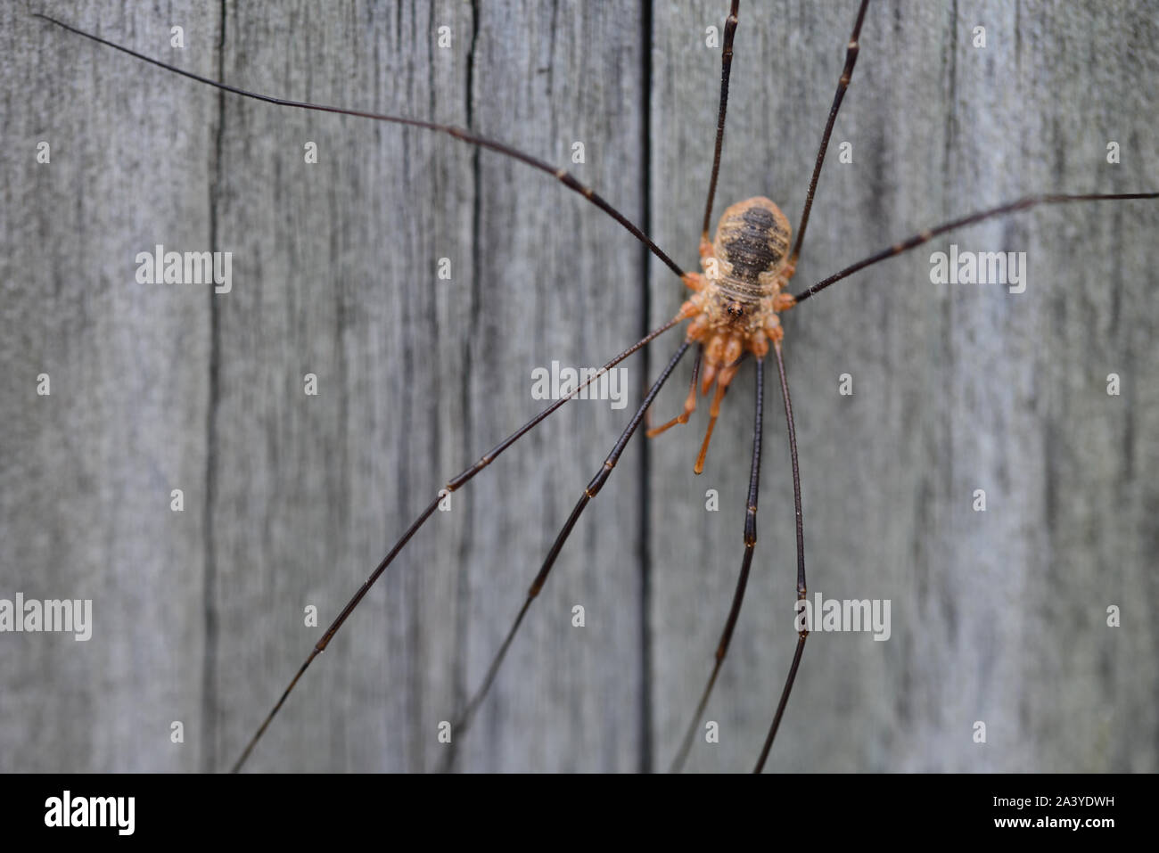
[[[744,534],[744,555],[741,566],[741,574],[737,582],[736,592],[734,595],[731,610],[728,615],[728,620],[724,625],[721,640],[716,651],[715,665],[712,669],[708,683],[704,688],[701,700],[697,708],[697,712],[692,715],[688,728],[685,734],[685,738],[681,743],[680,750],[673,761],[673,766],[679,767],[684,758],[687,754],[688,746],[691,745],[692,738],[695,734],[698,723],[701,720],[704,708],[707,703],[709,694],[712,692],[713,685],[720,672],[720,666],[724,659],[724,654],[728,649],[729,641],[731,639],[732,629],[736,625],[736,620],[741,610],[741,603],[745,591],[745,585],[749,576],[749,570],[751,567],[751,561],[756,547],[756,512],[757,512],[757,496],[758,496],[758,483],[759,483],[759,466],[761,455],[761,420],[763,420],[763,393],[764,393],[764,358],[768,352],[772,352],[777,360],[778,379],[781,386],[782,400],[785,404],[786,424],[788,429],[789,438],[789,455],[792,460],[793,468],[793,486],[794,486],[794,504],[796,510],[796,563],[797,563],[797,578],[796,578],[796,590],[797,598],[803,598],[806,596],[806,564],[804,564],[804,548],[803,548],[803,517],[801,506],[801,484],[800,476],[797,472],[797,453],[796,453],[796,442],[793,423],[793,411],[790,404],[790,398],[788,393],[788,380],[785,371],[785,363],[781,352],[781,333],[780,323],[777,319],[778,313],[788,312],[794,308],[801,301],[810,298],[821,290],[830,286],[831,284],[850,276],[866,267],[869,267],[879,261],[883,261],[888,257],[892,257],[897,254],[912,249],[920,246],[932,238],[950,232],[955,228],[963,227],[969,224],[979,223],[985,219],[998,217],[1005,213],[1012,213],[1015,211],[1025,210],[1037,204],[1060,204],[1067,202],[1079,202],[1079,201],[1095,201],[1095,199],[1128,199],[1128,198],[1157,198],[1159,194],[1085,194],[1085,195],[1045,195],[1045,196],[1034,196],[1019,199],[1008,204],[999,205],[997,207],[991,207],[981,212],[976,212],[958,219],[952,220],[949,223],[939,225],[933,228],[924,229],[913,236],[903,240],[891,247],[884,248],[881,251],[854,263],[841,271],[822,279],[821,282],[796,292],[795,297],[788,297],[786,291],[780,293],[785,285],[788,284],[788,279],[793,276],[796,268],[796,262],[801,255],[801,248],[803,243],[803,238],[806,234],[806,226],[809,221],[809,212],[811,209],[814,192],[817,187],[817,181],[824,163],[826,147],[829,145],[830,136],[833,129],[833,123],[836,121],[838,109],[840,107],[841,100],[844,97],[846,87],[850,82],[854,64],[858,57],[858,41],[860,36],[860,30],[862,21],[866,15],[866,8],[868,6],[868,0],[862,0],[860,8],[858,9],[855,24],[852,30],[852,37],[850,39],[850,45],[846,52],[845,67],[841,72],[840,81],[837,88],[837,94],[833,99],[833,104],[830,111],[829,121],[825,125],[824,133],[822,136],[822,143],[817,153],[816,163],[812,170],[812,176],[809,182],[809,192],[806,202],[804,210],[796,220],[795,241],[789,242],[788,223],[782,221],[779,210],[771,206],[771,203],[766,204],[763,199],[750,199],[749,202],[742,202],[734,205],[726,212],[723,219],[731,221],[730,226],[723,228],[722,232],[717,231],[717,243],[715,249],[709,241],[710,232],[710,217],[713,212],[714,194],[716,188],[717,172],[720,169],[721,150],[723,141],[724,121],[726,121],[726,109],[728,102],[728,85],[729,85],[729,72],[732,57],[732,41],[734,34],[737,28],[737,13],[738,13],[738,0],[735,0],[731,5],[730,15],[724,28],[724,48],[723,48],[723,61],[722,61],[722,79],[721,79],[721,97],[720,97],[720,109],[719,109],[719,123],[717,132],[715,138],[715,154],[713,159],[712,177],[709,181],[708,198],[705,205],[705,213],[702,220],[701,229],[701,246],[700,255],[702,262],[706,265],[706,271],[708,275],[700,276],[699,274],[690,274],[681,270],[673,261],[669,258],[657,246],[655,246],[644,234],[641,233],[639,228],[632,225],[627,219],[620,216],[610,204],[607,204],[603,198],[596,195],[592,190],[584,187],[575,177],[566,172],[556,170],[555,167],[532,158],[527,154],[523,154],[510,148],[501,143],[495,143],[479,138],[469,132],[449,127],[445,125],[437,125],[428,122],[413,121],[407,118],[400,118],[396,116],[382,116],[382,115],[371,115],[367,112],[360,112],[355,110],[335,109],[327,107],[319,107],[315,104],[296,103],[290,101],[284,101],[279,99],[270,99],[262,95],[255,95],[254,93],[242,92],[238,88],[225,86],[218,83],[213,80],[209,80],[196,74],[191,74],[185,71],[181,71],[173,66],[159,63],[154,59],[150,59],[146,56],[137,53],[134,51],[129,51],[124,48],[119,48],[110,42],[97,38],[104,44],[117,48],[118,50],[125,50],[125,52],[143,59],[145,61],[153,63],[154,65],[160,65],[169,71],[183,74],[185,76],[194,78],[201,82],[216,86],[218,88],[233,92],[239,95],[245,95],[247,97],[256,97],[258,100],[269,101],[283,105],[300,107],[307,109],[321,109],[331,112],[343,112],[347,115],[363,116],[369,118],[376,118],[384,122],[408,124],[411,126],[417,126],[427,130],[438,131],[450,133],[459,139],[468,143],[474,143],[483,147],[490,148],[493,151],[501,152],[503,154],[513,156],[524,163],[537,168],[541,172],[554,175],[560,182],[562,182],[568,189],[578,192],[589,201],[593,202],[602,210],[611,214],[624,225],[629,232],[632,232],[639,240],[643,241],[648,248],[661,258],[673,272],[680,276],[681,280],[694,291],[694,296],[685,304],[677,318],[672,319],[664,326],[654,330],[649,336],[644,337],[636,344],[634,344],[628,350],[625,350],[620,356],[608,363],[607,366],[613,366],[620,360],[626,358],[632,352],[649,343],[655,337],[659,336],[664,331],[673,328],[679,321],[691,320],[690,330],[686,333],[687,337],[684,344],[681,344],[676,355],[672,356],[671,360],[668,362],[666,366],[659,374],[659,378],[650,387],[648,394],[646,395],[642,404],[635,411],[628,426],[621,433],[620,439],[615,443],[612,452],[608,454],[607,460],[604,466],[596,473],[591,482],[584,489],[580,502],[576,504],[575,510],[566,523],[564,527],[557,535],[554,545],[549,549],[547,557],[540,569],[535,582],[532,585],[531,592],[524,603],[523,608],[519,611],[518,617],[515,620],[510,632],[503,644],[500,647],[496,657],[489,668],[487,676],[484,677],[481,686],[478,688],[476,693],[473,695],[472,700],[466,705],[461,716],[453,727],[458,734],[461,734],[464,729],[469,723],[472,715],[479,707],[487,694],[489,687],[491,686],[498,666],[503,661],[504,655],[510,646],[510,642],[516,635],[519,625],[523,620],[524,614],[527,612],[532,600],[538,595],[538,591],[542,586],[544,582],[547,579],[547,575],[559,556],[559,553],[563,546],[564,540],[571,532],[576,522],[578,520],[580,513],[590,502],[590,498],[595,496],[596,493],[603,487],[605,481],[608,479],[611,471],[615,462],[618,461],[620,453],[625,449],[628,439],[636,431],[639,425],[644,418],[650,403],[655,400],[661,387],[664,385],[666,379],[672,373],[676,364],[679,359],[687,352],[692,343],[698,344],[698,357],[697,366],[693,367],[693,382],[695,385],[698,379],[698,367],[702,371],[700,372],[700,381],[704,385],[704,389],[707,391],[712,385],[712,381],[716,381],[716,394],[712,398],[709,407],[709,424],[705,439],[701,446],[701,453],[698,459],[698,472],[704,464],[705,452],[708,447],[708,439],[712,435],[713,424],[715,423],[716,414],[721,406],[721,400],[723,398],[724,388],[728,387],[729,382],[732,380],[736,367],[742,357],[746,355],[755,356],[756,363],[756,423],[753,430],[753,445],[752,445],[752,466],[751,476],[749,486],[749,510],[745,518],[745,534]],[[49,19],[52,20],[52,19]],[[60,23],[56,22],[54,23]],[[66,27],[66,29],[72,29],[67,24],[60,23],[60,25]],[[74,32],[80,32],[79,30],[73,30]],[[90,38],[95,38],[89,34],[80,32],[80,35],[86,35]],[[761,213],[764,211],[764,213]],[[737,219],[730,220],[730,212]],[[720,228],[720,226],[719,226]],[[731,231],[730,231],[731,228]],[[763,236],[764,235],[764,236]],[[760,245],[765,243],[765,245]],[[720,274],[712,268],[710,261],[712,256],[715,254],[719,256],[717,260],[724,261],[723,268],[726,272]],[[744,256],[744,260],[739,260]],[[726,258],[730,258],[729,263]],[[728,275],[728,269],[732,268],[734,275]],[[741,268],[742,272],[737,274],[736,269]],[[720,268],[716,268],[717,270]],[[745,271],[746,270],[746,271]],[[722,290],[723,289],[723,290]],[[705,319],[698,319],[705,318]],[[699,325],[698,325],[699,323]],[[715,337],[714,337],[715,336]],[[789,335],[792,340],[792,335]],[[707,344],[707,349],[705,345]],[[577,389],[578,392],[578,389]],[[690,389],[690,394],[685,402],[685,408],[681,415],[673,421],[664,424],[663,426],[656,428],[653,432],[659,432],[675,423],[684,423],[688,420],[688,415],[692,413],[695,406],[694,388]],[[555,411],[564,400],[560,400],[544,413],[534,417],[527,424],[525,424],[517,432],[512,433],[509,438],[504,439],[500,445],[497,445],[493,451],[486,454],[479,462],[474,466],[464,471],[459,476],[452,479],[446,488],[450,491],[454,491],[466,484],[472,477],[475,476],[483,467],[490,464],[490,461],[498,455],[503,450],[509,447],[520,437],[526,435],[531,429],[539,424],[549,414]],[[394,560],[394,557],[401,552],[402,547],[407,545],[411,535],[435,513],[438,506],[439,498],[436,497],[431,501],[425,510],[415,520],[411,527],[403,534],[399,542],[391,549],[387,556],[382,560],[379,567],[370,576],[366,584],[350,600],[348,606],[341,612],[341,614],[335,619],[329,629],[325,633],[322,640],[318,642],[314,650],[309,654],[308,658],[302,664],[298,675],[294,676],[293,681],[286,688],[285,693],[278,700],[277,705],[270,712],[270,715],[263,722],[262,727],[255,734],[254,738],[250,741],[246,751],[239,758],[235,770],[240,768],[242,763],[249,756],[250,750],[255,746],[258,738],[264,732],[267,726],[271,722],[274,716],[277,714],[282,703],[285,701],[290,691],[297,684],[298,678],[301,677],[305,669],[309,665],[313,658],[327,647],[330,640],[334,637],[336,632],[342,627],[343,622],[350,614],[350,612],[357,606],[362,600],[363,596],[369,591],[370,586],[378,579],[386,567]],[[794,677],[799,670],[802,659],[802,652],[806,646],[806,633],[802,633],[799,637],[792,663],[789,665],[788,676],[786,678],[783,688],[780,693],[779,701],[775,702],[775,710],[771,708],[772,722],[768,728],[768,732],[761,750],[760,757],[757,761],[757,770],[764,766],[766,757],[768,754],[770,746],[777,734],[778,726],[780,724],[782,714],[785,712],[786,703],[788,701],[789,694],[792,692]]]

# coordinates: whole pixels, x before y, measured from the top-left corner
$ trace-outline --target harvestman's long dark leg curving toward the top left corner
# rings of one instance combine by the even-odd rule
[[[112,48],[114,50],[119,50],[122,53],[127,53],[129,56],[140,59],[141,61],[148,63],[150,65],[155,65],[159,68],[172,71],[174,74],[180,74],[181,76],[189,78],[190,80],[196,80],[199,83],[205,83],[206,86],[212,86],[216,89],[221,89],[223,92],[229,92],[233,93],[234,95],[241,95],[242,97],[249,97],[253,99],[254,101],[263,101],[265,103],[272,103],[278,107],[293,107],[294,109],[316,110],[319,112],[336,112],[343,116],[357,116],[358,118],[369,118],[374,122],[388,122],[391,124],[402,124],[408,127],[432,130],[437,133],[446,133],[449,136],[454,137],[455,139],[461,139],[462,141],[468,143],[471,145],[478,145],[482,148],[497,151],[501,154],[505,154],[506,156],[511,156],[515,158],[516,160],[519,160],[520,162],[527,163],[527,166],[531,166],[533,169],[539,169],[540,172],[545,172],[548,175],[552,175],[553,177],[555,177],[555,180],[557,180],[569,190],[578,192],[581,196],[583,196],[589,202],[599,207],[602,211],[612,217],[612,219],[622,225],[636,240],[647,246],[648,249],[654,255],[656,255],[656,257],[663,261],[668,265],[668,268],[672,270],[677,276],[681,278],[684,276],[684,270],[681,270],[672,258],[670,258],[666,254],[664,254],[664,251],[656,243],[654,243],[648,238],[647,234],[640,231],[639,227],[636,227],[627,217],[620,213],[620,211],[618,211],[615,207],[608,204],[602,196],[593,192],[590,187],[585,187],[584,184],[580,183],[580,181],[577,181],[567,169],[557,169],[551,163],[544,162],[539,158],[532,156],[531,154],[525,154],[524,152],[512,148],[510,145],[505,145],[504,143],[498,143],[495,141],[494,139],[486,139],[483,137],[475,136],[474,133],[471,133],[469,131],[464,130],[462,127],[455,127],[449,124],[436,124],[433,122],[422,122],[417,118],[404,118],[402,116],[387,116],[378,112],[351,110],[344,107],[328,107],[326,104],[307,103],[305,101],[290,101],[284,97],[261,95],[256,92],[248,92],[247,89],[241,89],[238,88],[236,86],[229,86],[228,83],[218,82],[217,80],[211,80],[206,76],[202,76],[201,74],[195,74],[191,71],[183,71],[182,68],[178,68],[174,65],[162,63],[158,59],[152,59],[145,56],[144,53],[138,53],[137,51],[116,44],[115,42],[109,42],[104,38],[101,38],[100,36],[94,36],[92,32],[85,32],[85,30],[79,30],[75,27],[70,27],[68,24],[64,23],[63,21],[58,21],[54,17],[49,17],[48,15],[42,15],[39,13],[34,13],[34,16],[44,19],[50,23],[54,23],[57,27],[63,27],[70,32],[75,32],[78,36],[83,36],[85,38],[89,38],[94,42],[99,42],[105,46]]]

